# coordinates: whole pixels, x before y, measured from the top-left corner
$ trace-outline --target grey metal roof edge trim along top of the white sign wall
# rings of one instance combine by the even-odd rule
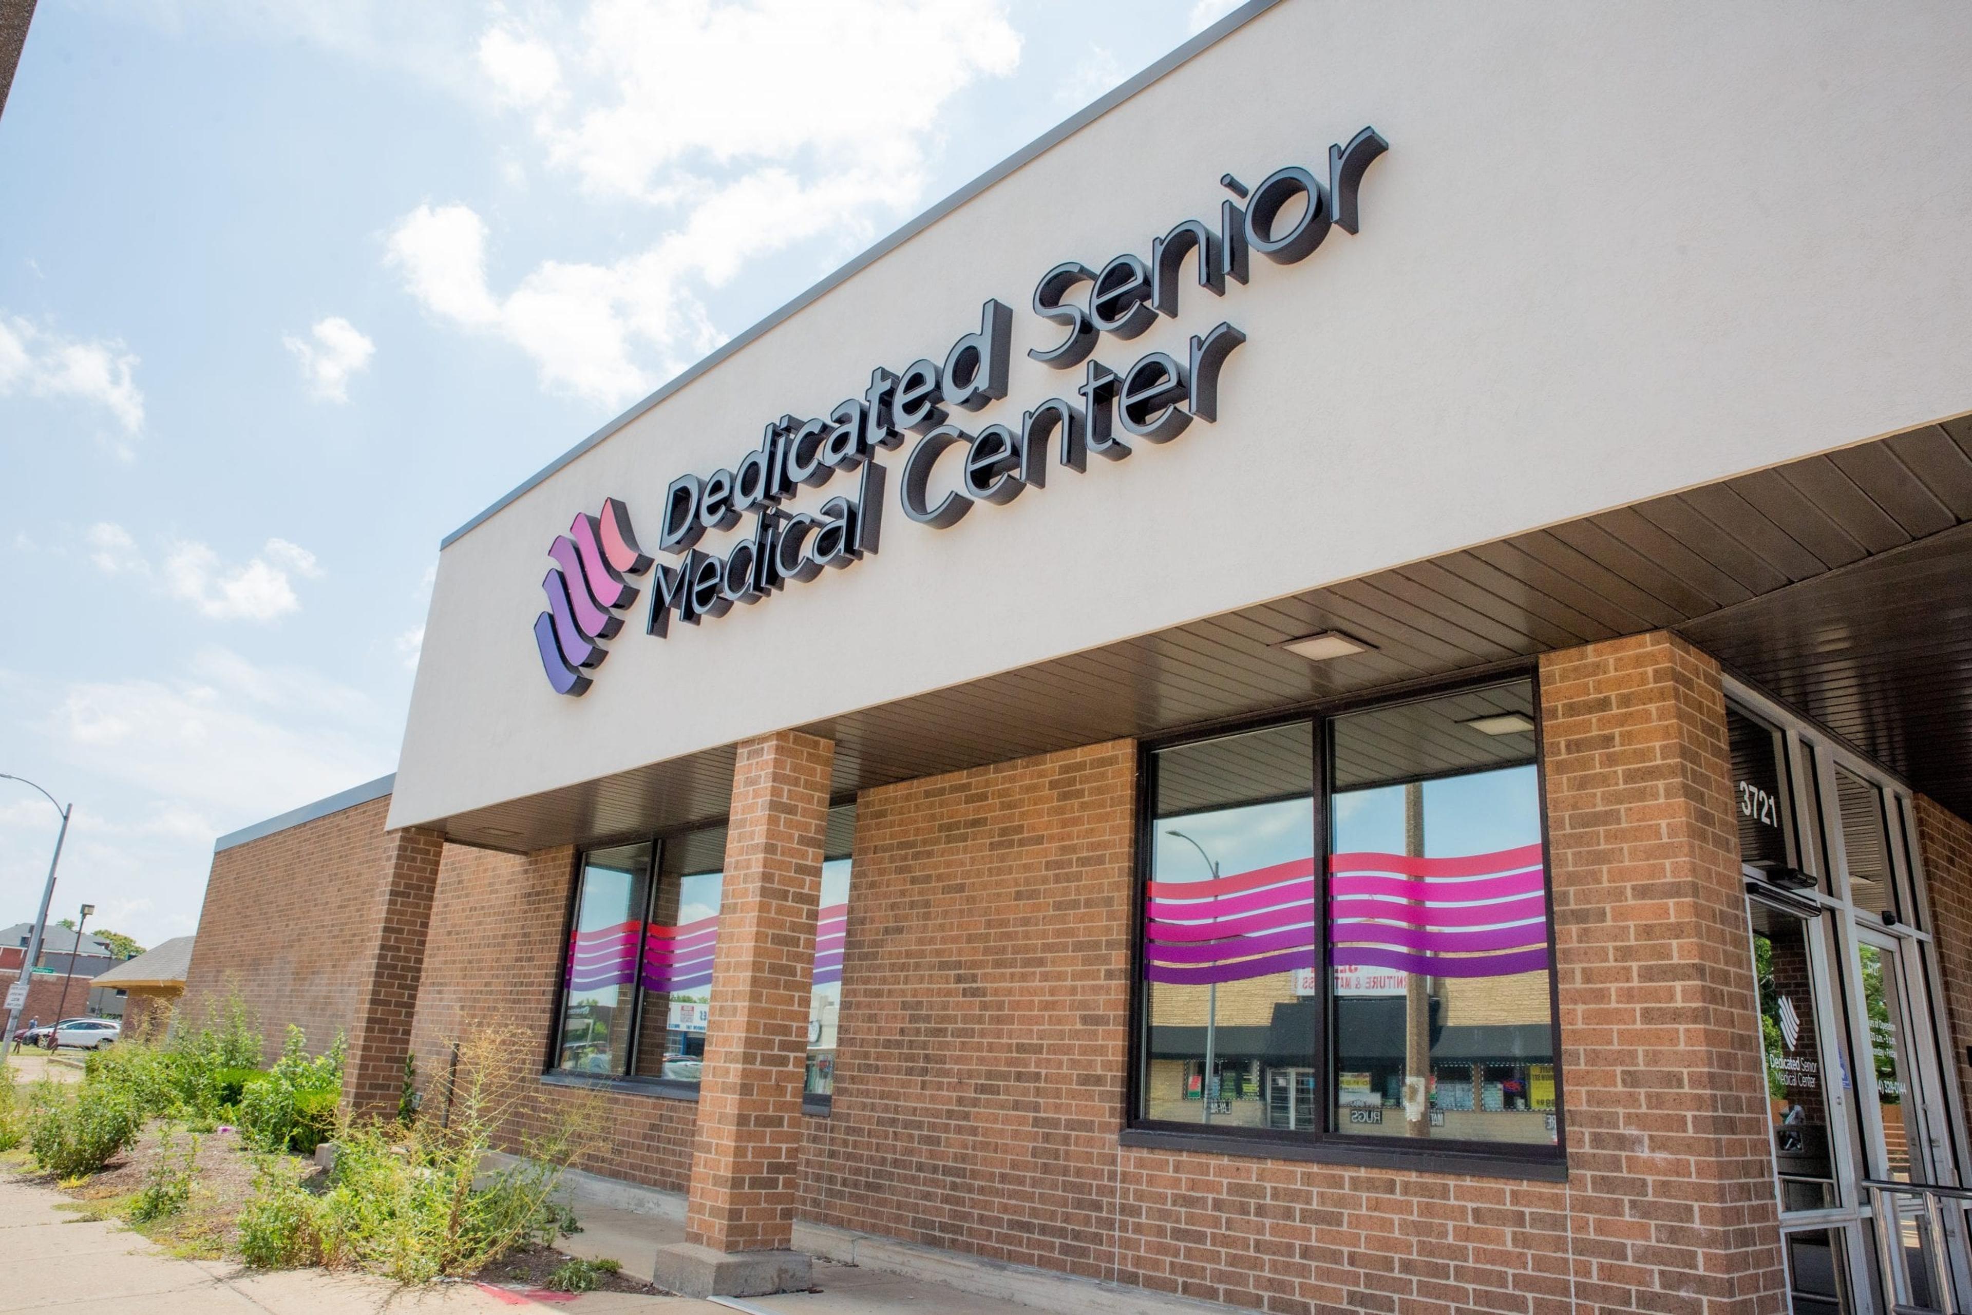
[[[706,357],[702,357],[696,365],[686,367],[682,373],[674,375],[669,382],[659,384],[657,392],[653,392],[651,396],[643,398],[641,402],[637,402],[635,406],[631,406],[629,410],[625,410],[621,416],[617,416],[615,420],[611,420],[603,428],[596,430],[594,434],[590,434],[588,438],[584,438],[580,444],[576,444],[574,448],[570,448],[568,451],[564,451],[556,459],[552,459],[546,465],[542,465],[538,471],[534,471],[532,475],[528,475],[527,479],[523,479],[505,497],[501,497],[499,501],[495,501],[491,507],[487,507],[485,511],[481,511],[477,517],[473,517],[471,520],[467,520],[459,528],[456,528],[450,534],[446,534],[442,540],[438,540],[438,550],[444,552],[446,548],[450,548],[452,544],[456,544],[458,540],[461,540],[465,534],[469,534],[471,530],[475,530],[481,522],[489,520],[493,515],[497,515],[499,511],[503,511],[507,505],[515,503],[525,493],[528,493],[530,489],[534,489],[540,483],[544,483],[548,477],[552,477],[564,465],[568,465],[570,461],[574,461],[576,457],[580,457],[582,453],[586,453],[590,448],[596,448],[598,444],[601,444],[605,438],[609,438],[611,434],[615,434],[617,430],[621,430],[623,426],[627,426],[631,420],[637,420],[639,416],[643,416],[647,410],[651,410],[653,406],[657,406],[659,402],[663,402],[665,398],[669,398],[672,392],[682,390],[686,384],[690,384],[698,377],[702,377],[708,371],[712,371],[712,367],[720,365],[722,361],[726,361],[732,355],[738,355],[743,347],[747,347],[753,341],[765,337],[771,329],[779,327],[787,319],[793,319],[799,311],[803,311],[810,304],[818,302],[822,296],[826,296],[828,292],[832,292],[836,286],[840,286],[842,282],[846,282],[854,274],[860,274],[868,266],[876,264],[878,260],[881,260],[883,256],[887,256],[891,250],[895,250],[897,246],[903,246],[913,237],[917,237],[919,233],[923,233],[925,229],[929,229],[937,221],[945,219],[947,215],[951,215],[952,211],[956,211],[960,205],[964,205],[972,197],[980,195],[982,191],[986,191],[988,187],[992,187],[994,183],[998,183],[1006,175],[1014,173],[1021,166],[1029,164],[1031,160],[1035,160],[1035,158],[1043,156],[1045,152],[1053,150],[1063,140],[1075,136],[1085,126],[1089,126],[1091,122],[1094,122],[1102,114],[1108,114],[1112,108],[1116,108],[1118,104],[1122,104],[1124,101],[1128,101],[1136,93],[1144,91],[1152,83],[1163,79],[1167,73],[1171,73],[1179,65],[1191,61],[1195,55],[1199,55],[1207,47],[1217,45],[1221,39],[1225,39],[1227,35],[1231,35],[1238,28],[1244,28],[1248,22],[1252,22],[1260,14],[1268,12],[1276,4],[1280,4],[1280,0],[1246,0],[1246,4],[1238,6],[1236,10],[1232,10],[1231,14],[1227,14],[1225,18],[1221,18],[1219,22],[1215,22],[1213,26],[1205,28],[1203,32],[1191,35],[1181,45],[1177,45],[1175,49],[1171,49],[1167,55],[1163,55],[1156,63],[1152,63],[1146,69],[1142,69],[1136,77],[1130,77],[1128,81],[1118,83],[1116,87],[1108,89],[1106,93],[1102,93],[1100,97],[1096,97],[1094,101],[1091,101],[1089,104],[1085,104],[1081,110],[1077,110],[1069,118],[1061,120],[1059,124],[1055,124],[1053,128],[1049,128],[1041,136],[1033,138],[1031,142],[1027,142],[1025,146],[1021,146],[1020,150],[1016,150],[1012,156],[1008,156],[1006,160],[1002,160],[1000,164],[992,166],[990,170],[986,170],[984,173],[980,173],[978,177],[974,177],[970,183],[962,185],[958,191],[951,193],[949,197],[945,197],[943,201],[939,201],[931,209],[927,209],[927,211],[919,213],[915,219],[907,221],[901,229],[897,229],[889,237],[885,237],[885,239],[878,241],[874,246],[866,248],[860,256],[852,258],[848,264],[836,268],[832,274],[828,274],[826,278],[822,278],[818,284],[810,286],[807,292],[799,294],[795,300],[791,300],[785,306],[781,306],[779,310],[771,311],[765,319],[759,319],[751,327],[747,327],[745,331],[741,331],[741,333],[726,339],[720,347],[716,347],[712,353],[708,353]]]

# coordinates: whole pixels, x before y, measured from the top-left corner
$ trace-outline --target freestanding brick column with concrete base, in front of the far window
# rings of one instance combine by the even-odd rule
[[[830,741],[779,731],[734,763],[686,1244],[659,1254],[657,1276],[690,1295],[807,1285],[807,1256],[787,1248],[832,761]]]

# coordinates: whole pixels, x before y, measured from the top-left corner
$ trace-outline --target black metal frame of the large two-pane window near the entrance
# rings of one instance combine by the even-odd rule
[[[1406,1138],[1365,1136],[1331,1132],[1327,1128],[1335,1100],[1335,1047],[1331,1043],[1331,1019],[1335,1009],[1335,978],[1327,962],[1327,907],[1329,907],[1329,810],[1333,793],[1333,722],[1351,712],[1392,708],[1400,704],[1424,702],[1445,694],[1483,690],[1499,684],[1526,680],[1532,692],[1534,720],[1534,781],[1536,812],[1540,826],[1540,867],[1542,897],[1548,917],[1548,1029],[1554,1053],[1554,1145],[1514,1143],[1514,1142],[1471,1142],[1451,1138],[1420,1138],[1416,1143]],[[1305,722],[1313,737],[1313,852],[1315,852],[1315,925],[1319,929],[1319,980],[1321,1007],[1315,1011],[1315,1051],[1309,1057],[1321,1074],[1317,1108],[1321,1120],[1311,1130],[1278,1128],[1221,1128],[1203,1124],[1181,1124],[1173,1120],[1152,1120],[1140,1114],[1144,1100],[1144,1063],[1148,1051],[1148,1007],[1150,992],[1144,980],[1144,889],[1152,879],[1152,858],[1156,854],[1158,818],[1158,753],[1189,743],[1242,735],[1282,726]],[[1463,775],[1436,773],[1436,775]],[[1284,796],[1288,798],[1288,796]],[[1436,1161],[1442,1173],[1471,1173],[1481,1177],[1511,1177],[1560,1183],[1568,1179],[1568,1088],[1562,1065],[1562,1007],[1560,970],[1554,936],[1554,864],[1548,836],[1548,775],[1546,745],[1542,735],[1540,710],[1540,670],[1534,662],[1505,664],[1483,674],[1459,676],[1451,680],[1416,682],[1400,690],[1380,690],[1343,700],[1280,710],[1258,718],[1240,718],[1213,726],[1193,727],[1177,735],[1138,741],[1136,773],[1136,858],[1132,864],[1130,891],[1130,1059],[1124,1074],[1124,1120],[1118,1132],[1122,1145],[1169,1151],[1215,1151],[1225,1155],[1248,1155],[1262,1159],[1298,1159],[1313,1163],[1359,1165],[1374,1169],[1426,1169]]]

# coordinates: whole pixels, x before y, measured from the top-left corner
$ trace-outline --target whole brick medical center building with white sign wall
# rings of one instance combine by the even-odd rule
[[[187,996],[661,1278],[1972,1299],[1960,8],[1248,4],[446,540]]]

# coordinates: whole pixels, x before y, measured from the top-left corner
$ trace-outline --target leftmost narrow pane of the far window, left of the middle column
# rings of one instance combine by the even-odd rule
[[[596,850],[582,864],[556,1069],[621,1074],[629,1063],[649,875],[649,844]]]

